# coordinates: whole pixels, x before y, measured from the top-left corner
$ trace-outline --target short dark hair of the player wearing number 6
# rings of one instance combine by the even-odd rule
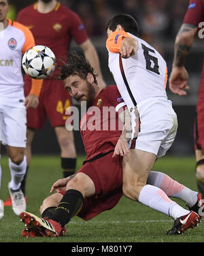
[[[137,24],[137,21],[135,20],[135,18],[133,18],[133,16],[129,14],[117,14],[116,16],[114,16],[114,18],[109,20],[106,29],[115,31],[117,25],[121,25],[126,32],[129,32],[136,36],[139,35],[139,26]]]

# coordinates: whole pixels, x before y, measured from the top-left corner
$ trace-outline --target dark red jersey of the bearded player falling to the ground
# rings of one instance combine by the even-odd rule
[[[114,150],[122,132],[116,109],[124,108],[124,105],[117,87],[109,85],[100,91],[92,106],[82,115],[80,131],[86,160]]]

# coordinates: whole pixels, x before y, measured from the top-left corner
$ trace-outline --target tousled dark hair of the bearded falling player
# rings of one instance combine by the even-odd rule
[[[69,51],[67,61],[62,62],[63,65],[58,66],[61,80],[65,80],[68,76],[75,74],[85,80],[88,73],[91,73],[94,77],[94,83],[98,84],[97,73],[82,55],[78,55],[75,51]]]

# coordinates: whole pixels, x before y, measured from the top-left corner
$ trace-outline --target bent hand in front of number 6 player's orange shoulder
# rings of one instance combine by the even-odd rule
[[[122,58],[127,59],[135,54],[138,44],[133,38],[123,38],[120,46],[120,54]]]

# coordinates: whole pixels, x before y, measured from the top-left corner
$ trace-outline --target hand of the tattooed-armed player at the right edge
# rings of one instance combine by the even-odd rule
[[[185,96],[186,90],[189,89],[187,85],[188,81],[188,72],[186,68],[182,67],[173,67],[171,74],[169,76],[169,89],[174,93],[180,96]]]

